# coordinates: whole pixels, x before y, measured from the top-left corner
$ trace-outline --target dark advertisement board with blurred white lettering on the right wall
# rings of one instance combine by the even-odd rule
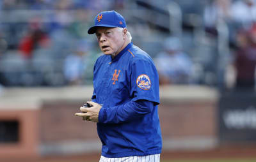
[[[223,93],[218,107],[220,142],[256,142],[256,95]]]

